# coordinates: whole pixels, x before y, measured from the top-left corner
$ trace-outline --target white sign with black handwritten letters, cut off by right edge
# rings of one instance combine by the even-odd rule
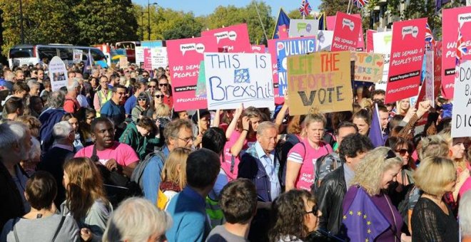
[[[455,79],[452,110],[452,137],[471,136],[471,61],[461,63]]]

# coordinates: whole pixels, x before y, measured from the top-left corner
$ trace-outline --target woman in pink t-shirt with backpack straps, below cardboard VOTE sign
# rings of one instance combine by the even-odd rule
[[[290,189],[310,190],[310,185],[314,182],[315,161],[332,152],[332,147],[322,141],[325,122],[325,117],[321,113],[305,117],[306,137],[300,143],[295,144],[288,153],[286,191]]]

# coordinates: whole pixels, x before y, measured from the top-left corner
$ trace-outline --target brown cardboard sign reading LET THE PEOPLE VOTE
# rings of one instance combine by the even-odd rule
[[[290,115],[352,110],[350,52],[318,52],[288,57]]]

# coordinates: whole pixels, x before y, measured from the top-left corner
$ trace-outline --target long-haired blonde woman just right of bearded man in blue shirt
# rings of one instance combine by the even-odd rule
[[[163,165],[161,184],[158,191],[157,206],[167,209],[170,200],[186,186],[186,159],[191,149],[176,148],[168,155]]]

